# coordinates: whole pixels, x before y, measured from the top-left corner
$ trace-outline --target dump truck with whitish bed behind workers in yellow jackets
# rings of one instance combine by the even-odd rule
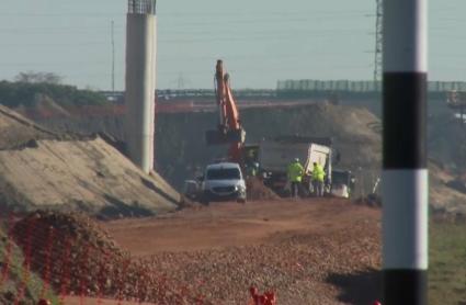
[[[325,169],[326,184],[328,188],[331,185],[332,149],[330,146],[309,142],[263,140],[258,147],[258,162],[265,185],[285,195],[287,192],[286,170],[295,158],[299,158],[307,177],[303,183],[305,193],[308,194],[311,191],[308,178],[314,162]]]

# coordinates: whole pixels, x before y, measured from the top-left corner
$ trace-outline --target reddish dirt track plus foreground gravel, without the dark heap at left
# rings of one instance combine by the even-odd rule
[[[218,203],[103,223],[180,289],[246,304],[272,289],[280,304],[371,304],[379,297],[380,211],[345,200]]]

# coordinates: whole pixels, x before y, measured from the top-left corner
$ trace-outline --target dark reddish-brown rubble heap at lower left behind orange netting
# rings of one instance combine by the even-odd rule
[[[62,295],[195,304],[197,297],[174,285],[152,264],[132,259],[90,218],[36,212],[13,227],[16,244],[33,271]],[[205,304],[205,303],[204,303]]]

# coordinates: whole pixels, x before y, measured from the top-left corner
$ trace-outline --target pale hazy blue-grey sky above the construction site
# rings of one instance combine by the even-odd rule
[[[158,88],[213,88],[223,58],[234,89],[279,79],[370,80],[375,0],[158,0]],[[78,87],[124,88],[127,0],[1,0],[0,79],[52,71]],[[465,80],[465,0],[429,1],[429,78]]]

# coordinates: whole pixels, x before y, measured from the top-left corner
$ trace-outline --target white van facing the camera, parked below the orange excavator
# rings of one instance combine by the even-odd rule
[[[205,204],[228,200],[246,203],[246,183],[238,163],[208,165],[201,185],[201,201]]]

